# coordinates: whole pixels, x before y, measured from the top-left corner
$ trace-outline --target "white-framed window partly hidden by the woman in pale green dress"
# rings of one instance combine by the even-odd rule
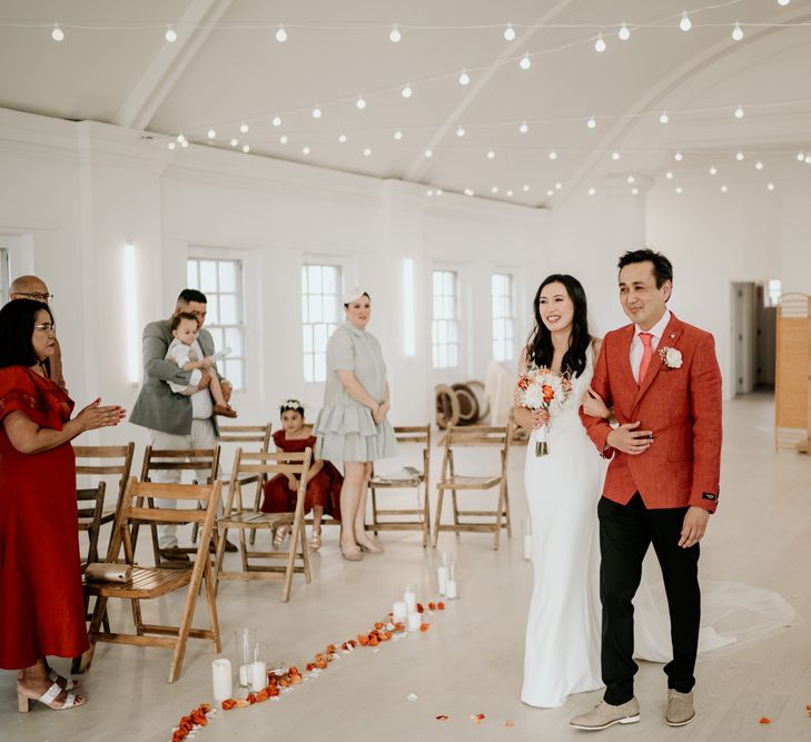
[[[301,266],[304,380],[327,378],[327,340],[340,324],[340,266]]]

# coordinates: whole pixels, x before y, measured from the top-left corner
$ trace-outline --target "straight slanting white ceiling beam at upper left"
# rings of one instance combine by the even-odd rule
[[[116,113],[113,123],[132,129],[147,128],[231,2],[233,0],[191,0],[177,24],[176,30],[180,31],[178,40],[164,44]]]

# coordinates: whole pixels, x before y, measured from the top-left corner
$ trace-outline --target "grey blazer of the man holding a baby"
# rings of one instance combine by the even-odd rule
[[[175,394],[169,388],[169,382],[188,385],[194,372],[185,372],[171,360],[166,360],[171,340],[171,319],[149,323],[144,328],[144,386],[129,422],[152,431],[188,435],[191,432],[191,399]],[[206,356],[214,354],[214,340],[207,329],[200,330],[197,340]],[[211,416],[211,423],[215,435],[219,435],[215,415]]]

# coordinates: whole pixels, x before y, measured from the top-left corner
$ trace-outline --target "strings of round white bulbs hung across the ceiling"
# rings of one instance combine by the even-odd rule
[[[354,105],[357,111],[363,112],[368,109],[369,105],[374,105],[380,98],[390,96],[392,93],[398,93],[403,99],[408,100],[417,96],[421,89],[425,86],[436,82],[455,81],[462,88],[469,86],[476,76],[483,73],[486,70],[491,70],[494,67],[504,67],[510,65],[516,65],[518,70],[527,71],[532,68],[533,61],[540,57],[557,53],[576,47],[592,46],[594,53],[604,53],[609,46],[614,42],[619,42],[624,46],[631,41],[632,37],[641,31],[650,31],[651,29],[674,29],[680,33],[688,33],[694,29],[726,29],[729,38],[732,43],[742,41],[749,31],[758,31],[764,29],[804,29],[811,28],[811,21],[802,19],[788,19],[778,21],[745,21],[735,19],[732,22],[720,22],[720,21],[706,21],[701,17],[702,14],[719,10],[730,9],[734,6],[739,6],[743,0],[726,0],[724,2],[716,2],[714,4],[708,4],[700,8],[693,8],[691,10],[683,9],[678,12],[670,13],[663,18],[657,18],[651,21],[644,22],[632,22],[629,20],[620,20],[613,24],[600,24],[600,23],[517,23],[506,21],[503,23],[485,23],[485,24],[458,24],[458,26],[427,26],[427,24],[413,24],[413,23],[283,23],[283,22],[240,22],[240,23],[198,23],[187,20],[180,20],[176,22],[149,22],[149,21],[133,21],[133,22],[117,22],[117,23],[80,23],[69,21],[56,21],[53,23],[44,23],[42,21],[27,21],[27,20],[0,20],[0,28],[17,28],[17,29],[36,29],[36,30],[49,30],[51,39],[57,43],[70,42],[73,38],[73,32],[78,36],[87,32],[154,32],[160,31],[164,34],[165,42],[174,44],[176,42],[187,40],[196,31],[208,31],[208,32],[224,32],[224,31],[250,31],[260,33],[273,33],[273,38],[277,44],[286,44],[288,42],[300,41],[307,39],[308,34],[316,32],[329,32],[329,33],[379,33],[387,34],[388,41],[393,44],[407,44],[415,38],[424,37],[426,33],[432,32],[493,32],[498,33],[504,42],[511,44],[508,48],[512,49],[520,42],[520,34],[527,34],[530,32],[540,30],[571,30],[571,31],[584,31],[584,36],[578,36],[566,40],[564,42],[550,44],[544,48],[535,48],[530,51],[528,49],[518,51],[517,53],[503,53],[496,58],[479,61],[477,63],[464,67],[463,69],[445,70],[439,73],[434,73],[419,79],[408,80],[399,82],[394,86],[386,86],[375,90],[357,93],[356,96],[342,96],[334,98],[328,101],[315,102],[306,106],[298,106],[288,108],[285,110],[275,111],[263,111],[259,115],[246,118],[243,120],[231,121],[218,121],[210,122],[204,126],[190,126],[186,131],[171,135],[167,139],[167,147],[169,149],[189,147],[191,142],[206,142],[211,146],[219,146],[224,148],[239,149],[244,154],[251,151],[251,145],[254,148],[263,145],[280,145],[286,148],[300,147],[300,154],[303,157],[308,158],[314,154],[315,148],[320,148],[323,151],[326,147],[355,147],[360,156],[364,158],[370,158],[373,156],[373,148],[368,144],[368,139],[375,135],[382,132],[390,135],[392,140],[388,145],[375,144],[375,150],[387,149],[390,147],[408,145],[422,131],[431,132],[435,135],[439,132],[442,136],[434,137],[434,140],[441,141],[444,136],[453,137],[454,151],[469,152],[472,157],[484,157],[487,160],[494,160],[500,154],[510,154],[511,149],[516,149],[524,155],[543,155],[546,154],[550,160],[556,160],[558,157],[566,157],[572,155],[582,155],[583,152],[593,154],[594,149],[589,148],[537,148],[537,147],[498,147],[496,151],[495,147],[471,147],[464,148],[461,146],[462,139],[467,137],[472,132],[489,132],[498,131],[504,129],[517,129],[521,135],[526,135],[531,130],[541,128],[548,125],[561,125],[572,123],[577,126],[584,126],[587,130],[595,130],[606,123],[615,121],[633,121],[634,119],[644,120],[651,119],[657,121],[661,126],[666,126],[674,119],[689,118],[694,116],[714,116],[714,117],[732,117],[733,120],[742,120],[748,112],[759,111],[795,111],[798,108],[811,107],[811,99],[801,100],[782,100],[782,101],[768,101],[758,102],[751,101],[749,103],[732,103],[732,105],[719,105],[703,108],[681,109],[681,110],[645,110],[634,113],[589,113],[583,116],[570,116],[570,117],[550,117],[543,119],[520,119],[520,120],[507,120],[507,121],[457,121],[453,125],[445,122],[431,126],[421,125],[414,127],[397,127],[397,128],[382,128],[382,127],[368,127],[363,126],[353,128],[352,130],[337,130],[330,129],[328,123],[325,126],[325,121],[328,122],[329,113],[337,107],[346,106],[347,103]],[[791,3],[791,0],[762,0],[764,4],[777,4],[780,7],[787,7]],[[184,38],[186,37],[186,39]],[[385,38],[385,37],[384,37]],[[804,111],[803,111],[804,112]],[[309,128],[297,128],[284,131],[284,122],[288,118],[300,118],[301,113],[309,113],[309,118],[313,121],[313,126]],[[278,133],[283,130],[283,133]],[[222,132],[229,133],[222,133]],[[250,135],[249,141],[247,135]],[[324,141],[308,141],[308,139],[315,136],[316,139],[324,137],[335,137],[333,145]],[[364,139],[367,141],[364,142]],[[357,141],[356,141],[357,140]],[[443,152],[451,148],[451,145],[435,145],[426,148],[422,151],[422,157],[426,160],[433,158],[435,155]],[[288,148],[289,149],[289,148]],[[601,156],[610,157],[612,161],[616,162],[623,158],[623,155],[631,152],[644,151],[636,149],[629,149],[624,152],[620,149],[613,149],[610,152],[601,152]],[[651,150],[653,151],[653,150]],[[661,148],[655,151],[661,151]],[[680,164],[686,155],[701,155],[703,152],[689,152],[689,151],[675,151],[673,152],[673,159],[676,164]],[[753,159],[754,169],[756,171],[763,171],[765,169],[764,160],[785,160],[788,158],[795,158],[799,164],[811,165],[811,147],[802,149],[800,151],[787,151],[787,150],[769,150],[768,152],[758,152],[753,150],[735,150],[734,152],[713,152],[714,157],[725,159],[733,157],[736,162],[741,162],[744,159]],[[682,169],[683,171],[684,169]],[[708,174],[715,178],[720,175],[719,165],[711,165],[708,169]],[[811,171],[809,171],[811,174]],[[636,182],[637,178],[634,174],[627,174],[625,176],[630,192],[632,195],[639,195],[640,187]],[[675,172],[673,169],[669,169],[663,174],[644,174],[645,179],[649,181],[656,177],[663,178],[665,181],[673,181],[675,179]],[[557,191],[563,189],[563,182],[555,181],[554,184],[523,184],[521,186],[514,186],[512,188],[500,188],[498,186],[492,186],[489,189],[491,196],[504,195],[507,198],[513,197],[516,194],[527,194],[533,189],[544,191],[547,197],[553,197]],[[769,191],[775,190],[777,186],[773,180],[769,180],[763,186]],[[724,181],[719,186],[720,192],[726,194],[730,191],[730,184]],[[681,195],[684,192],[684,186],[676,185],[674,187],[676,194]],[[428,188],[426,194],[428,196],[442,196],[445,192],[442,188]],[[475,192],[471,188],[464,189],[465,195],[473,196]],[[596,195],[597,189],[591,186],[586,192],[590,196]],[[482,195],[482,194],[479,194]]]

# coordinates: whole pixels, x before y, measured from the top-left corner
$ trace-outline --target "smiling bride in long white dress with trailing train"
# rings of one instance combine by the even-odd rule
[[[589,334],[586,297],[572,276],[552,275],[538,287],[536,326],[522,352],[518,375],[528,364],[568,372],[570,402],[548,413],[515,407],[515,419],[532,429],[524,484],[532,521],[534,581],[526,622],[521,700],[554,708],[571,693],[603,686],[600,672],[600,541],[597,501],[605,462],[585,434],[577,408],[607,417],[602,400],[586,395],[600,340]],[[541,424],[548,422],[548,455],[536,456]],[[759,641],[799,623],[780,595],[740,583],[703,585],[699,653]],[[661,574],[646,561],[634,598],[634,656],[672,659],[670,616]]]

